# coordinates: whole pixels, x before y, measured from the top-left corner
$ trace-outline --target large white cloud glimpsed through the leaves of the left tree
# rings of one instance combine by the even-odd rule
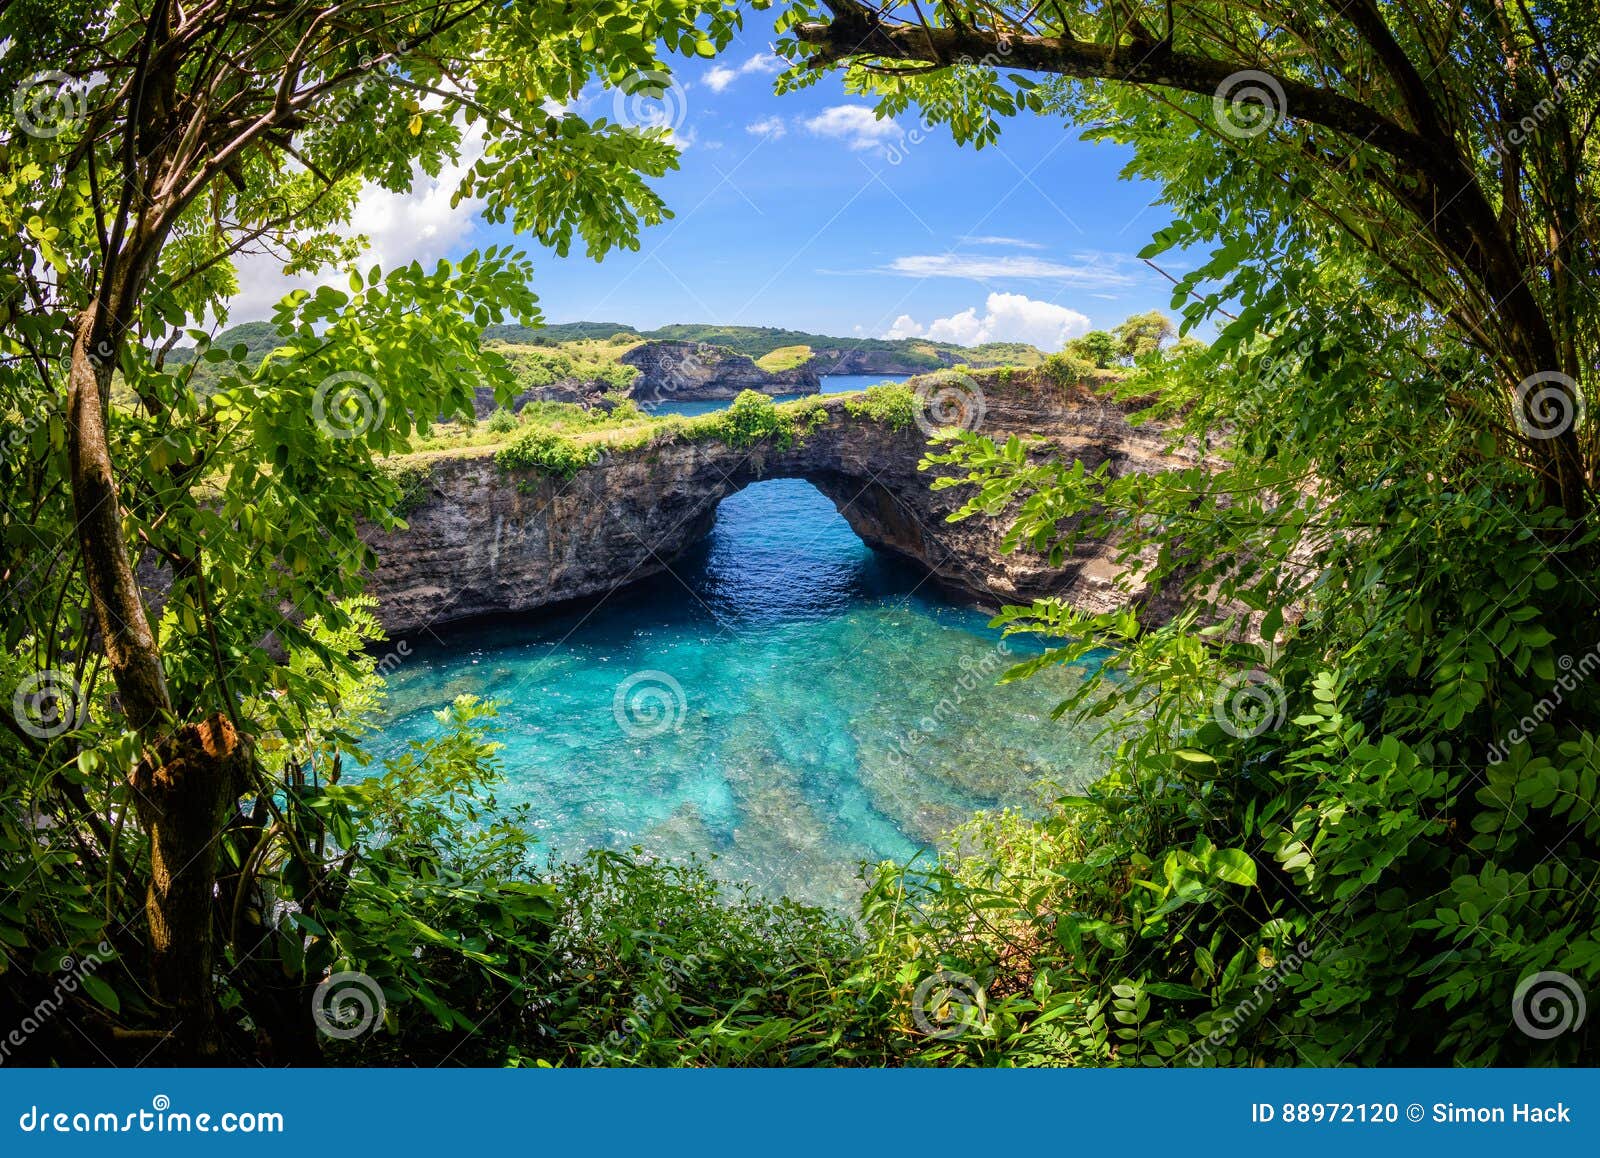
[[[355,202],[347,227],[347,232],[363,234],[370,242],[360,267],[365,270],[376,262],[387,274],[413,261],[429,266],[459,250],[477,224],[483,198],[469,197],[454,208],[450,198],[461,178],[482,155],[482,131],[469,131],[461,142],[461,160],[445,165],[437,178],[414,170],[411,189],[405,194],[366,186]],[[342,274],[285,277],[283,262],[267,253],[250,253],[234,264],[238,272],[238,294],[229,302],[229,320],[235,323],[270,317],[272,307],[291,290],[344,283]]]

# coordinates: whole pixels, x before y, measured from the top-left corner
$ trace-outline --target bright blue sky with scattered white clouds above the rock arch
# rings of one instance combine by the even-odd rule
[[[552,321],[776,325],[838,336],[1059,341],[1168,309],[1134,254],[1166,222],[1155,186],[1118,179],[1126,155],[1056,120],[1019,117],[998,146],[874,122],[838,78],[773,94],[770,29],[715,61],[680,62],[662,101],[595,90],[586,117],[669,120],[682,168],[658,182],[677,214],[638,253],[566,259],[451,210],[456,174],[408,197],[373,190],[355,227],[386,266],[514,242],[531,253]],[[234,320],[262,317],[283,282],[242,269]]]

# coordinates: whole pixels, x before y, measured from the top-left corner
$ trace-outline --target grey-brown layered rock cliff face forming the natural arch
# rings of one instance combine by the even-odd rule
[[[1158,430],[1128,424],[1128,406],[1027,374],[986,377],[984,392],[982,430],[994,437],[1037,433],[1086,467],[1109,461],[1117,472],[1178,465],[1162,454]],[[723,497],[763,478],[811,481],[866,542],[920,561],[984,606],[1046,595],[1094,611],[1141,601],[1136,577],[1106,544],[1051,568],[1002,553],[998,520],[947,523],[962,491],[930,489],[934,475],[917,469],[926,446],[918,427],[854,417],[837,398],[822,405],[827,421],[789,449],[666,440],[610,454],[565,483],[507,473],[493,448],[438,454],[410,529],[366,534],[384,627],[403,637],[603,595],[670,566],[710,531]]]

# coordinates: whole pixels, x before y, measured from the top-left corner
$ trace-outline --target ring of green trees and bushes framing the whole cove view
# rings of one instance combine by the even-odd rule
[[[360,969],[389,1024],[350,1060],[1592,1057],[1592,1022],[1510,1016],[1534,974],[1600,980],[1590,16],[782,13],[782,85],[842,69],[978,147],[1014,115],[1131,146],[1174,218],[1147,253],[1210,251],[1174,307],[1219,328],[1125,387],[1214,448],[1202,469],[1114,478],[981,433],[930,454],[1014,549],[1154,544],[1197,611],[1006,611],[1059,640],[1040,662],[1114,645],[1120,677],[1069,705],[1114,721],[1107,774],[1043,822],[974,822],[960,861],[885,868],[851,929],[693,870],[534,875],[472,702],[338,784],[373,694],[355,521],[397,518],[378,459],[416,425],[474,381],[509,397],[478,337],[536,325],[522,258],[352,269],[280,305],[259,366],[210,352],[205,392],[163,357],[203,342],[245,248],[354,267],[360,182],[405,189],[469,128],[461,194],[491,219],[562,254],[632,245],[670,141],[560,106],[664,85],[658,51],[712,54],[738,6],[14,0],[0,82],[53,70],[72,115],[40,133],[13,102],[0,162],[6,681],[58,691],[6,720],[6,1000],[37,1009],[66,953],[114,960],[34,1049],[309,1060],[314,990]],[[171,576],[155,621],[146,566]],[[952,1024],[912,1016],[928,979],[971,980]]]

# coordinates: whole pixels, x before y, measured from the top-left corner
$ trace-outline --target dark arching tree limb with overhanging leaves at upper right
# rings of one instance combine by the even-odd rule
[[[1251,325],[1275,329],[1290,302],[1256,270],[1314,219],[1346,235],[1474,352],[1470,381],[1437,400],[1440,421],[1496,429],[1549,505],[1587,517],[1597,443],[1576,419],[1597,361],[1600,69],[1584,5],[829,0],[794,5],[786,26],[795,59],[848,66],[883,114],[917,102],[979,146],[1022,109],[1102,114],[1104,136],[1142,131],[1152,157],[1160,122],[1166,162],[1176,133],[1202,133],[1216,147],[1181,181],[1238,182],[1250,197],[1232,200],[1256,216],[1197,213],[1158,237],[1152,256],[1226,238],[1181,294],[1222,278]]]

